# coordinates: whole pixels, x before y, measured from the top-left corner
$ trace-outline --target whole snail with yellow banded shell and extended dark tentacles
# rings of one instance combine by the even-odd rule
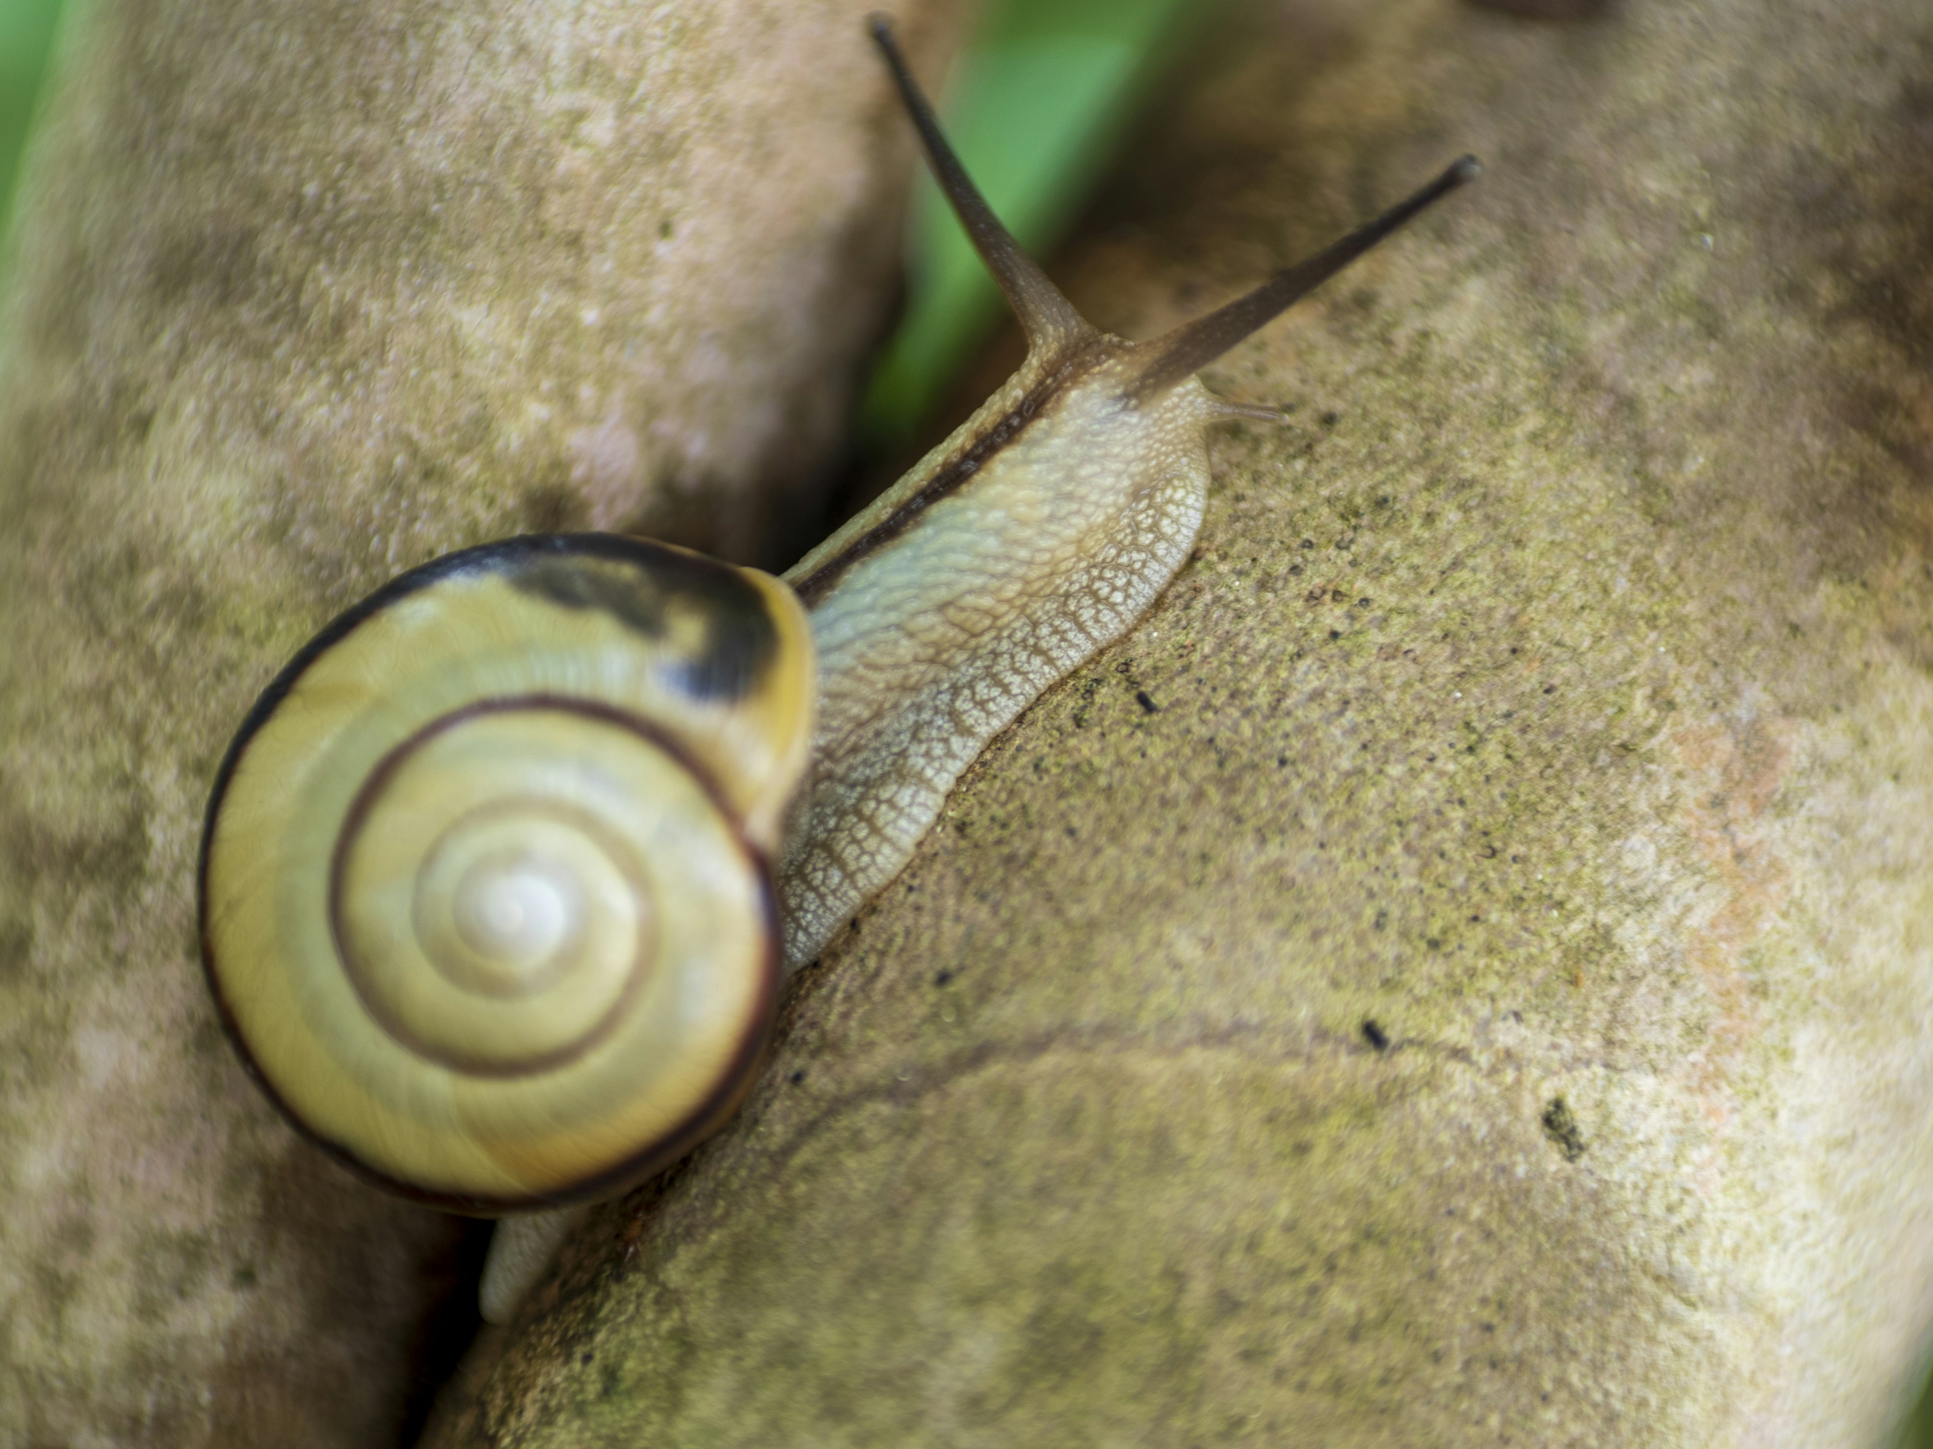
[[[731,1113],[785,972],[1179,570],[1206,429],[1278,417],[1197,369],[1477,172],[1465,156],[1249,296],[1125,342],[1021,251],[872,33],[1026,330],[1019,373],[783,580],[597,533],[406,572],[282,668],[216,771],[199,925],[230,1039],[361,1175],[535,1213],[499,1231],[493,1320],[559,1209]]]

